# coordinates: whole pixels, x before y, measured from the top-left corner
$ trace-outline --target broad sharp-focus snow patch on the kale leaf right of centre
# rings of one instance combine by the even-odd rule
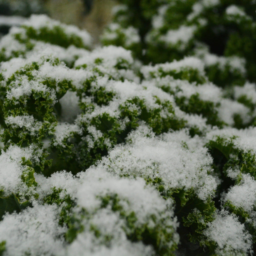
[[[132,145],[116,146],[99,166],[121,176],[161,178],[166,189],[195,188],[199,198],[206,200],[216,187],[215,180],[207,176],[212,158],[203,146],[184,148],[182,141],[189,141],[189,137],[181,133],[169,133],[165,141],[132,133]],[[175,141],[177,136],[183,140]]]

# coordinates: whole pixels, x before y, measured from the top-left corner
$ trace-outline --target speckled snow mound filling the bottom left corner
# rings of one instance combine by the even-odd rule
[[[6,241],[4,256],[57,255],[63,250],[65,227],[60,227],[55,205],[38,205],[20,213],[4,215],[0,241]]]

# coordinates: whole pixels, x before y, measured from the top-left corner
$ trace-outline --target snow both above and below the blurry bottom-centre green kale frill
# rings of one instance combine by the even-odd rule
[[[156,189],[145,186],[143,179],[126,179],[113,176],[99,167],[93,167],[86,172],[79,174],[81,185],[77,191],[77,214],[80,207],[87,212],[87,218],[82,220],[84,230],[78,234],[75,241],[68,246],[68,252],[76,255],[148,255],[152,254],[151,246],[143,245],[141,242],[130,242],[127,239],[130,228],[126,226],[125,220],[119,211],[113,211],[111,206],[101,207],[101,197],[117,196],[118,204],[126,214],[135,213],[136,227],[148,225],[154,228],[160,224],[166,227],[168,232],[173,234],[173,238],[168,242],[168,246],[178,243],[179,236],[175,233],[178,227],[176,218],[173,218],[173,201],[164,200]],[[122,210],[122,211],[123,211]],[[154,215],[156,219],[151,220]],[[89,221],[87,221],[87,219]],[[91,227],[100,232],[100,236],[95,239],[92,235]],[[104,236],[110,236],[108,248]],[[102,236],[102,237],[101,237]],[[130,247],[129,247],[130,246]],[[127,250],[130,248],[129,250]]]

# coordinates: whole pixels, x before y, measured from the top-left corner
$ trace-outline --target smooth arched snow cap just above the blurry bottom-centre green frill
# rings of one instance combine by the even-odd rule
[[[106,172],[102,166],[94,166],[85,173],[80,174],[83,183],[77,192],[77,203],[93,211],[101,204],[99,196],[115,195],[124,202],[120,202],[124,211],[136,213],[138,223],[143,223],[148,216],[156,215],[165,211],[167,205],[172,204],[172,200],[164,200],[153,187],[145,187],[145,180],[120,179]],[[129,203],[125,203],[125,201]],[[170,216],[173,212],[170,211]]]

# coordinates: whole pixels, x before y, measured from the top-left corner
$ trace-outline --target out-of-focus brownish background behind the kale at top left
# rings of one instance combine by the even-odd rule
[[[33,13],[46,13],[55,20],[85,28],[99,42],[103,29],[112,20],[116,0],[0,0],[0,33],[7,34],[11,25]]]

